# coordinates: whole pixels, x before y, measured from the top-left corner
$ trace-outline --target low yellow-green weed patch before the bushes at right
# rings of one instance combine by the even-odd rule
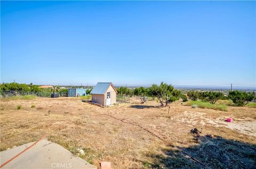
[[[211,104],[209,102],[202,102],[202,101],[189,101],[187,102],[188,106],[197,105],[199,108],[209,108],[209,109],[215,109],[218,111],[228,111],[228,107],[226,105],[217,105],[217,104]]]

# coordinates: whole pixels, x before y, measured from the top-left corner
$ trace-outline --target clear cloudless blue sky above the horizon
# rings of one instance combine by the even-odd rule
[[[255,1],[1,1],[1,82],[255,86]]]

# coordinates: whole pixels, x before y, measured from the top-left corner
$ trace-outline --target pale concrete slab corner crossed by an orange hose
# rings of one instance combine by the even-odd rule
[[[9,150],[0,152],[1,165],[15,155],[32,145],[34,142],[26,143]],[[43,139],[29,148],[23,154],[14,158],[2,168],[83,168],[96,169],[80,157],[74,156],[70,151]]]

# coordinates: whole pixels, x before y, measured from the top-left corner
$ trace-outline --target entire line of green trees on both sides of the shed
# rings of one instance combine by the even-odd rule
[[[30,83],[29,85],[20,84],[20,83],[2,83],[0,85],[1,91],[32,91],[32,92],[57,92],[61,96],[68,96],[68,89],[60,89],[57,86],[54,86],[52,89],[41,89],[38,85],[33,85]],[[86,90],[86,94],[90,94],[91,89]],[[157,99],[161,106],[167,106],[169,103],[175,102],[182,98],[183,102],[187,102],[190,100],[198,100],[201,99],[205,102],[210,102],[211,104],[215,104],[219,99],[231,99],[234,104],[237,106],[245,106],[252,100],[255,100],[254,92],[245,92],[245,91],[230,91],[228,96],[223,95],[222,92],[219,91],[196,91],[190,90],[186,94],[182,93],[181,90],[175,89],[172,85],[161,82],[160,85],[152,85],[151,87],[139,87],[135,89],[130,89],[127,87],[117,88],[118,95],[132,97],[139,96],[141,103],[146,103],[148,97],[152,97],[153,100]]]

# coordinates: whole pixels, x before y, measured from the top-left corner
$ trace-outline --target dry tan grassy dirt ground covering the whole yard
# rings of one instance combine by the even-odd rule
[[[131,102],[102,108],[80,98],[2,99],[1,151],[46,136],[74,154],[82,148],[81,157],[98,167],[101,161],[113,168],[256,166],[256,108],[222,112],[178,101],[168,113],[155,101]],[[191,134],[194,128],[202,133]]]

